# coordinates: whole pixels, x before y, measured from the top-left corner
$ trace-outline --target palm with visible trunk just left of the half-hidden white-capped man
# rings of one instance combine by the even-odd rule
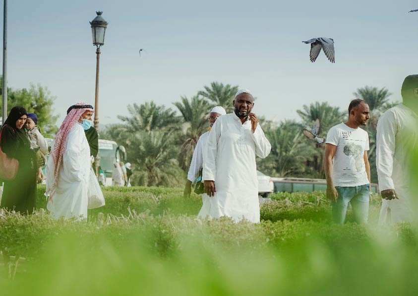
[[[209,114],[209,103],[199,95],[195,95],[189,101],[182,96],[180,102],[173,103],[180,111],[184,120],[184,134],[179,153],[179,165],[183,170],[187,170],[190,159],[196,147],[197,140],[207,127],[207,116]]]

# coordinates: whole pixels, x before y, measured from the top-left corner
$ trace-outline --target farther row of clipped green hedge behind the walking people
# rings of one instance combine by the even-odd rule
[[[38,187],[38,208],[46,208],[44,196],[45,186]],[[166,187],[105,187],[103,194],[106,199],[104,207],[88,211],[89,219],[98,213],[128,215],[128,209],[141,213],[149,210],[153,215],[172,213],[176,215],[197,216],[202,206],[200,195],[192,194],[183,198],[182,189]],[[262,220],[312,220],[329,222],[331,218],[330,202],[322,192],[312,193],[274,193],[271,202],[264,203],[260,208]],[[370,222],[376,222],[380,209],[380,198],[375,196],[370,204]],[[347,221],[353,222],[351,211]]]

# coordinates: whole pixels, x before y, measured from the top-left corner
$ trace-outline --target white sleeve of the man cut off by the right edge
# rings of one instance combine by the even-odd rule
[[[377,123],[376,135],[376,168],[380,191],[395,188],[392,171],[397,130],[395,114],[384,113]]]

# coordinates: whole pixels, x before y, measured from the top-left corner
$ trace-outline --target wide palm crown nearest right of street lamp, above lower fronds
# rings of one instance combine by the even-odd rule
[[[164,105],[157,106],[153,101],[141,105],[127,106],[130,116],[118,116],[132,132],[152,131],[154,129],[179,130],[181,119]]]

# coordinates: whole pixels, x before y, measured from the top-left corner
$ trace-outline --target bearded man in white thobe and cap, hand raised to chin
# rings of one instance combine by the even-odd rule
[[[260,222],[255,157],[265,158],[271,149],[251,113],[253,96],[240,89],[233,101],[234,113],[218,118],[206,144],[203,177],[210,197],[209,218],[231,217]]]

